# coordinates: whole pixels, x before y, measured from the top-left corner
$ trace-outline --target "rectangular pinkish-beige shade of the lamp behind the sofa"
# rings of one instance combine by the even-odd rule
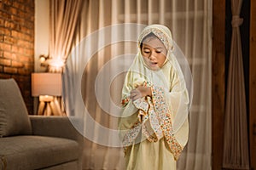
[[[32,73],[32,96],[61,96],[61,73]]]

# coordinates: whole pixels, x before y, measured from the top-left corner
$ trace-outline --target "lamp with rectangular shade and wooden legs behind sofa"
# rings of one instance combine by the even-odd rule
[[[61,73],[32,73],[32,96],[39,96],[38,115],[61,115]]]

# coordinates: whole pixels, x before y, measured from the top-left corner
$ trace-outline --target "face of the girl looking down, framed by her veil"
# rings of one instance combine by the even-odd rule
[[[166,61],[166,47],[156,37],[148,37],[143,41],[143,59],[148,68],[153,71],[159,70]]]

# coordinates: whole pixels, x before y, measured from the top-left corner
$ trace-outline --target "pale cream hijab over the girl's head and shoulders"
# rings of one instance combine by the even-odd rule
[[[167,50],[166,62],[158,71],[148,69],[140,49],[143,38],[147,37],[151,32],[163,42]],[[150,25],[145,27],[138,38],[139,52],[126,74],[122,89],[122,98],[126,99],[129,98],[131,90],[143,81],[164,88],[166,105],[168,105],[172,116],[171,133],[176,133],[182,127],[189,113],[189,94],[183,77],[183,71],[173,54],[174,44],[172,33],[166,26]],[[126,107],[129,107],[129,105]],[[131,111],[134,111],[134,109],[131,109]]]

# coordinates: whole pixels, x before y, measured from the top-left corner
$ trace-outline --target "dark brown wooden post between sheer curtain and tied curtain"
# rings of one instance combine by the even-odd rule
[[[225,94],[225,0],[212,0],[212,170],[222,168]]]

